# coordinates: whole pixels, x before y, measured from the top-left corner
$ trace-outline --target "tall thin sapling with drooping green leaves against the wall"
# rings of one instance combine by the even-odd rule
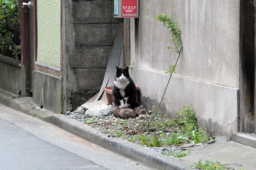
[[[182,43],[182,38],[181,38],[182,31],[180,30],[179,26],[177,26],[177,22],[174,22],[172,18],[170,18],[168,15],[165,15],[163,13],[160,13],[159,15],[155,16],[155,19],[158,19],[160,22],[163,23],[163,25],[166,28],[169,29],[169,34],[172,36],[171,41],[174,42],[174,47],[166,47],[166,48],[167,49],[173,49],[173,51],[178,54],[178,57],[177,57],[176,62],[175,62],[174,65],[170,66],[168,69],[165,69],[166,70],[165,73],[169,74],[170,77],[169,77],[169,80],[168,80],[167,85],[165,87],[165,92],[162,95],[162,99],[159,102],[159,104],[158,104],[158,106],[157,106],[157,108],[154,112],[154,115],[153,115],[152,119],[149,121],[148,127],[150,125],[150,122],[154,119],[155,114],[157,113],[157,110],[159,109],[161,103],[163,102],[163,99],[164,99],[167,87],[168,87],[168,85],[170,83],[170,80],[172,78],[172,75],[173,75],[173,73],[176,73],[175,68],[177,66],[177,62],[180,58],[180,55],[181,55],[181,52],[182,52],[182,49],[183,49],[183,43]]]

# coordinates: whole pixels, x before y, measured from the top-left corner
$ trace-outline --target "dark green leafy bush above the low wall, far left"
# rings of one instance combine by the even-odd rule
[[[20,59],[20,0],[0,0],[0,53]]]

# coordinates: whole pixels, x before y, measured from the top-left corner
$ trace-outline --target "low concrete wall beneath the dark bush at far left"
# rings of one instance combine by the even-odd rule
[[[16,94],[21,78],[21,61],[0,55],[0,89]]]

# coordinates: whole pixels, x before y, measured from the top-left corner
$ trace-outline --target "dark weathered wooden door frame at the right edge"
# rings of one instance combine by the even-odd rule
[[[255,130],[255,0],[240,0],[240,125],[238,131]]]

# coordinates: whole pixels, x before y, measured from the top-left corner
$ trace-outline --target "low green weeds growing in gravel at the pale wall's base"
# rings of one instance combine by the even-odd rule
[[[149,110],[149,116],[154,112],[154,109]],[[144,122],[141,124],[146,127],[148,123]],[[143,127],[142,127],[143,128]],[[147,131],[157,130],[158,135],[147,136],[144,134],[140,135],[141,144],[146,144],[147,146],[157,146],[157,145],[181,145],[186,143],[198,144],[206,143],[211,138],[207,136],[203,129],[198,129],[197,119],[195,116],[195,111],[192,106],[183,106],[179,112],[177,112],[177,117],[174,119],[164,119],[161,117],[154,117],[153,121],[150,122]],[[169,135],[164,135],[164,132],[172,129]]]

